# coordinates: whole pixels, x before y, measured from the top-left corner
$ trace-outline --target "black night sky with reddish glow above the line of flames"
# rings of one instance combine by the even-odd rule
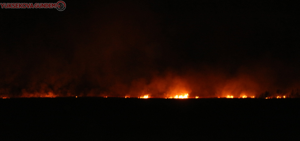
[[[295,3],[64,2],[61,12],[0,9],[0,96],[256,96],[300,88]]]

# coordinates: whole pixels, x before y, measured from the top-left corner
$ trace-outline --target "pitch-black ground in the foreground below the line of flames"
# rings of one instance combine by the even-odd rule
[[[0,99],[0,140],[299,140],[300,99]]]

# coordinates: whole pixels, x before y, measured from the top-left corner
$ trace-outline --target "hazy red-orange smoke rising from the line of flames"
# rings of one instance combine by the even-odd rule
[[[202,14],[186,24],[179,19],[189,13],[175,11],[176,17],[170,11],[151,3],[112,2],[85,12],[70,8],[59,16],[42,11],[49,19],[28,20],[37,13],[22,18],[17,12],[24,25],[9,25],[16,19],[2,23],[7,36],[0,40],[0,96],[259,97],[298,88],[299,67],[277,52],[258,50],[264,44],[238,32],[247,24],[223,37],[234,25],[220,29],[221,22],[211,23],[218,16]]]

